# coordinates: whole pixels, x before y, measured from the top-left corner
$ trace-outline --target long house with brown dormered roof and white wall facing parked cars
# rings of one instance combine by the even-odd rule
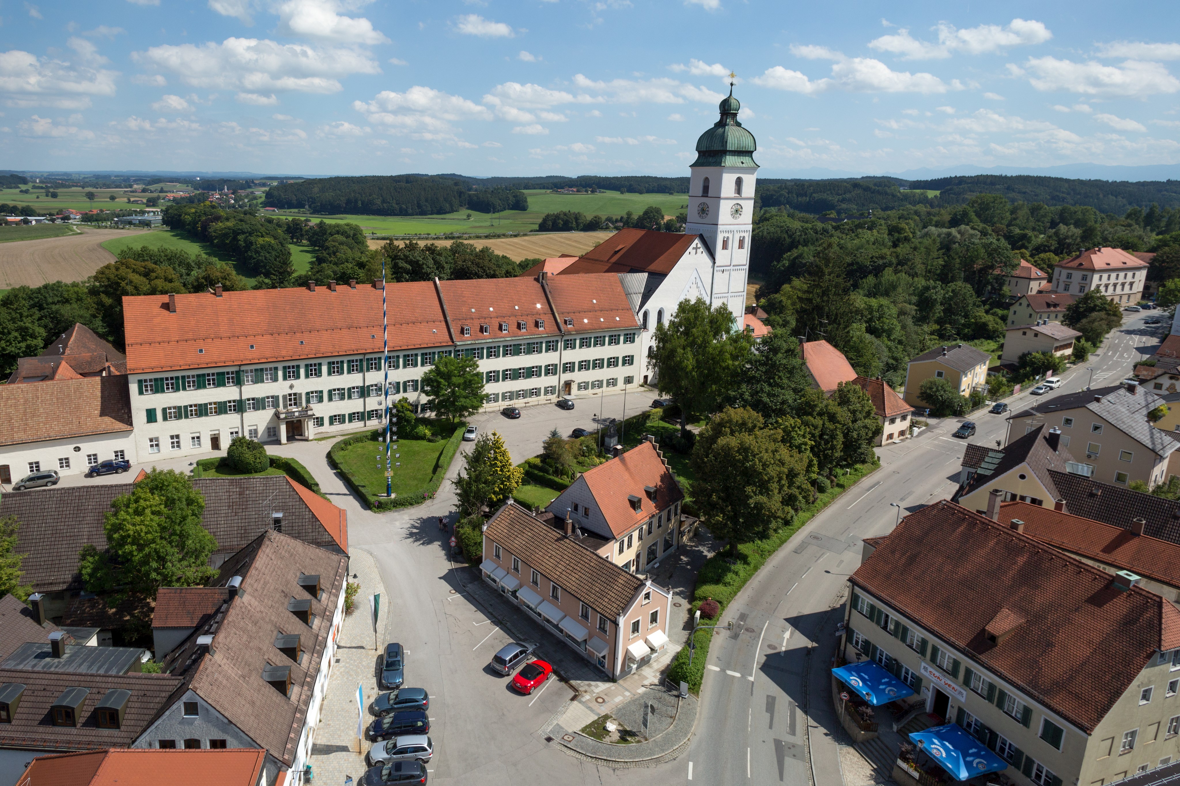
[[[131,747],[263,748],[268,781],[303,782],[347,579],[347,556],[274,530],[230,557],[210,582],[225,601],[164,656],[181,685]]]

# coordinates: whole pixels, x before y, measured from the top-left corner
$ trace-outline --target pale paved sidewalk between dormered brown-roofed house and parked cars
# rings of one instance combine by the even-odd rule
[[[320,726],[312,745],[312,773],[316,782],[342,784],[346,775],[360,782],[367,767],[363,753],[358,753],[356,738],[356,686],[365,689],[365,724],[372,721],[368,705],[378,694],[376,650],[374,649],[373,616],[369,613],[368,599],[374,593],[381,593],[381,619],[378,623],[380,635],[376,641],[387,641],[386,625],[389,620],[389,608],[393,599],[385,592],[376,561],[368,551],[353,548],[348,570],[356,574],[349,579],[360,583],[356,593],[356,608],[345,616],[340,626],[336,645],[336,658],[328,676],[328,691],[320,711]],[[367,752],[368,742],[361,745]]]

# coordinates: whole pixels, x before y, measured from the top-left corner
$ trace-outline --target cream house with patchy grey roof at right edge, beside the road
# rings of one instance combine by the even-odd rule
[[[1062,442],[1079,461],[1094,467],[1096,480],[1155,486],[1180,474],[1172,465],[1180,442],[1148,418],[1161,404],[1162,398],[1133,383],[1064,394],[1011,415],[1008,434],[1027,434],[1047,423],[1061,430]],[[1077,442],[1071,442],[1074,436]]]

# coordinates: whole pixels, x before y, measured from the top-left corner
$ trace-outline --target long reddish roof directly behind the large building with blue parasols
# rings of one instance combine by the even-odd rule
[[[1029,537],[1180,587],[1180,544],[1028,502],[999,506],[999,523],[1010,523],[1012,519],[1024,522],[1024,534]]]

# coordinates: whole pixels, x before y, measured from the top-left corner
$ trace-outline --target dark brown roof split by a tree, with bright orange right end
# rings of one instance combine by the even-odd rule
[[[271,511],[281,511],[283,531],[302,541],[336,550],[348,543],[347,529],[340,537],[346,523],[342,516],[329,515],[321,497],[315,497],[319,508],[309,507],[301,487],[283,475],[202,477],[192,484],[205,498],[201,523],[217,541],[215,556],[234,554],[269,529]],[[78,551],[87,543],[106,548],[104,514],[114,497],[130,494],[132,488],[133,483],[59,486],[0,497],[0,516],[14,515],[20,522],[17,548],[26,554],[25,581],[42,593],[80,589]],[[63,521],[70,527],[61,527]]]

